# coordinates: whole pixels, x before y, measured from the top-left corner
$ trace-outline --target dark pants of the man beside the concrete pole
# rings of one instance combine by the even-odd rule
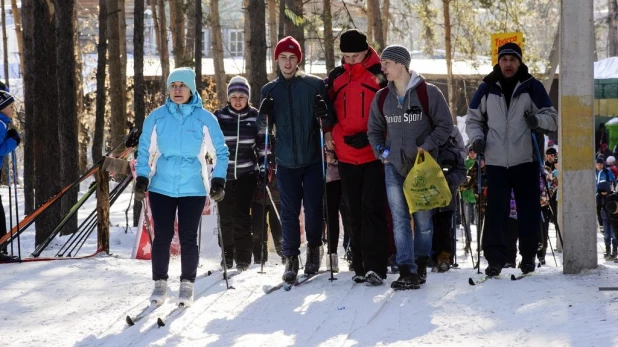
[[[487,165],[487,213],[483,252],[490,264],[509,261],[508,219],[511,190],[517,203],[519,254],[524,263],[533,263],[541,234],[541,192],[536,162],[509,168]]]

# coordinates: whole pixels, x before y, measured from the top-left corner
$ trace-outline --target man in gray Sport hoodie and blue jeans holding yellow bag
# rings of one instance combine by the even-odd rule
[[[433,235],[432,210],[412,214],[412,234],[403,182],[416,155],[427,153],[437,158],[438,149],[453,130],[444,95],[410,70],[410,61],[410,52],[403,46],[391,45],[382,52],[382,72],[388,86],[371,104],[367,132],[371,148],[384,163],[399,266],[399,278],[391,283],[396,290],[418,289],[425,282]]]

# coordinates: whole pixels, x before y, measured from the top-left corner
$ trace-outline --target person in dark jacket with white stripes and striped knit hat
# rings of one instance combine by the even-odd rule
[[[214,115],[225,144],[230,149],[225,199],[218,205],[226,268],[236,263],[239,271],[251,264],[251,202],[258,189],[258,169],[264,165],[264,137],[259,132],[258,110],[249,104],[251,87],[242,76],[234,76],[227,86],[228,103]],[[264,170],[260,171],[262,176]],[[261,187],[260,187],[261,189]]]

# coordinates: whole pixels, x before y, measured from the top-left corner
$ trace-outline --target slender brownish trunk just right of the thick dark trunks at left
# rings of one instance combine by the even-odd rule
[[[73,18],[77,18],[77,8],[73,7]],[[73,22],[73,40],[75,41],[75,110],[77,112],[77,132],[78,132],[78,172],[86,172],[88,169],[88,143],[90,135],[84,124],[84,83],[82,78],[82,51],[79,42],[78,21]]]

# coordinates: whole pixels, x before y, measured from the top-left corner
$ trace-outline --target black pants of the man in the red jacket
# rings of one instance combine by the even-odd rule
[[[374,271],[384,277],[388,266],[384,166],[378,160],[361,165],[339,162],[339,175],[348,205],[354,272]]]

